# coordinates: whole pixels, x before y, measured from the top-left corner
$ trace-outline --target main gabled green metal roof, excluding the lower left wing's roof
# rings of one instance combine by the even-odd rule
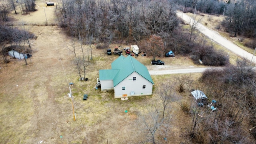
[[[122,82],[122,80],[124,80],[133,72],[137,72],[146,80],[154,84],[146,66],[141,64],[138,60],[130,55],[126,58],[124,56],[120,56],[118,59],[112,62],[111,67],[112,69],[120,69],[113,79],[114,86],[118,85],[120,82]]]

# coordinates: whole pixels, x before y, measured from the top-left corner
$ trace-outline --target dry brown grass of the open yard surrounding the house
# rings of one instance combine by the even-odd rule
[[[156,99],[156,96],[130,97],[121,101],[114,99],[113,92],[95,90],[98,70],[110,68],[111,62],[117,58],[106,56],[103,50],[95,47],[92,64],[87,68],[86,77],[89,80],[78,81],[74,55],[66,48],[70,38],[57,26],[42,26],[45,23],[42,8],[45,2],[39,0],[36,4],[39,7],[34,13],[26,16],[12,14],[16,24],[26,23],[22,27],[38,38],[32,40],[34,52],[27,66],[23,60],[17,59],[10,59],[9,64],[0,63],[0,143],[102,144],[108,141],[108,144],[133,144],[142,141],[140,112],[144,101]],[[54,23],[54,8],[45,8],[48,23]],[[151,58],[139,56],[137,59],[149,70],[154,69],[150,65]],[[163,70],[195,66],[190,58],[180,56],[162,60],[166,62]],[[197,79],[200,74],[193,76]],[[158,82],[172,79],[173,75],[152,78],[156,88]],[[71,89],[76,121],[68,97],[69,82],[74,83]],[[83,94],[88,94],[87,101],[82,100]],[[188,92],[181,96],[190,100]],[[186,143],[182,135],[190,124],[187,117],[178,104],[172,103],[172,134],[168,141],[160,142]]]

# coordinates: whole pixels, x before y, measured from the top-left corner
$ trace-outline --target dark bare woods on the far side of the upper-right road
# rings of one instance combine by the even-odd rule
[[[253,42],[249,42],[246,46],[254,49],[256,46],[256,2],[255,0],[176,0],[180,10],[184,12],[194,13],[197,11],[224,15],[225,19],[222,26],[225,31],[233,36],[246,36],[253,38]],[[184,8],[184,9],[183,9]],[[220,28],[220,27],[218,27]]]

